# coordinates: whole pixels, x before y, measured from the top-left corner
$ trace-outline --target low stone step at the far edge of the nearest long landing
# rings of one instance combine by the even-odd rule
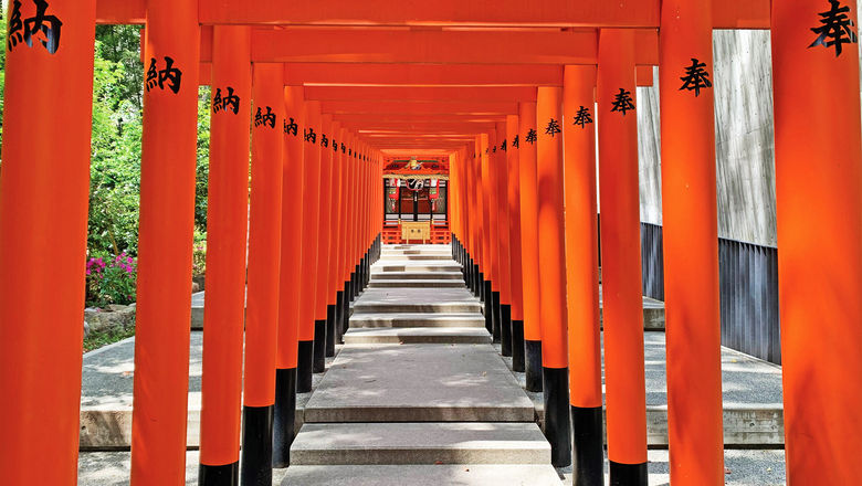
[[[491,344],[484,327],[351,328],[345,345],[482,345]]]

